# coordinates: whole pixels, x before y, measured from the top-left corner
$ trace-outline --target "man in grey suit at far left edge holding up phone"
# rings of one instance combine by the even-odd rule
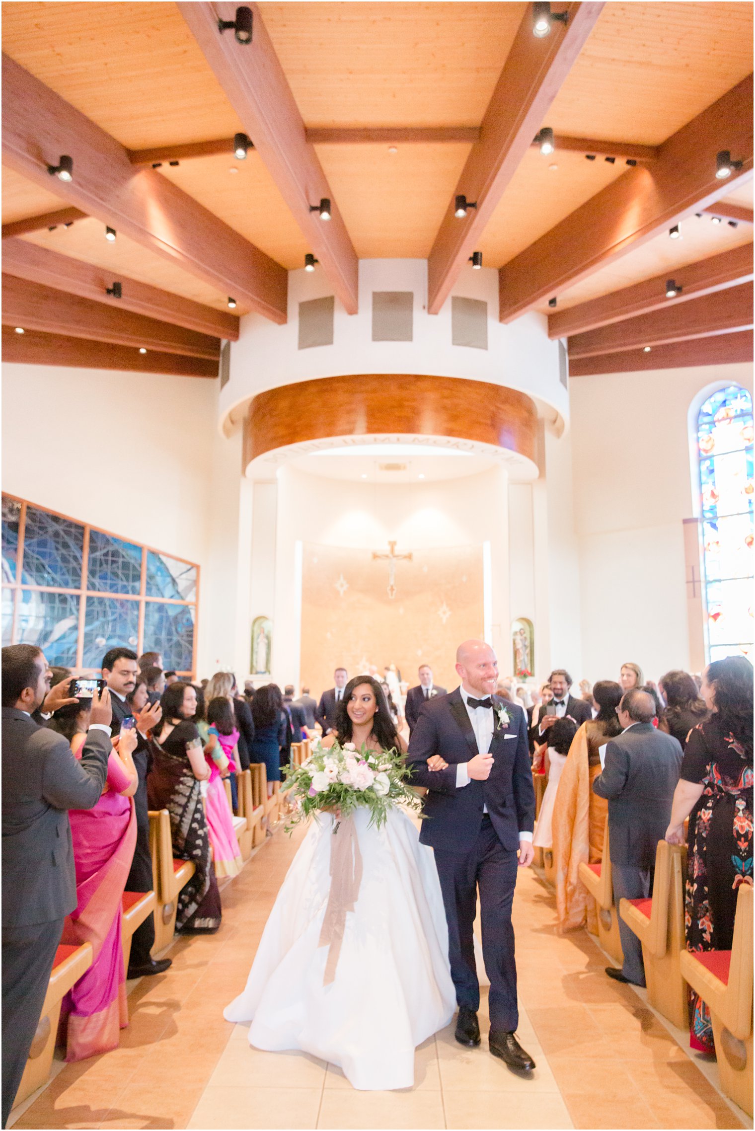
[[[96,805],[107,776],[110,694],[92,701],[77,761],[66,739],[32,714],[63,703],[69,681],[50,691],[40,648],[2,649],[2,1126],[20,1083],[47,992],[63,920],[75,908],[69,809]],[[55,694],[57,692],[57,694]]]

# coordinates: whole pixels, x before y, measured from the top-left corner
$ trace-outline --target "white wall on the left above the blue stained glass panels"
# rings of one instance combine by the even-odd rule
[[[238,664],[251,484],[241,439],[217,435],[217,381],[19,364],[2,378],[3,490],[198,562],[198,670]]]

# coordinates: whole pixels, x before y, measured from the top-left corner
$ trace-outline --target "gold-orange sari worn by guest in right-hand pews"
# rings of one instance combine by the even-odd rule
[[[600,774],[598,748],[605,742],[604,725],[583,723],[574,735],[562,770],[553,813],[553,861],[556,873],[558,932],[584,926],[598,933],[595,899],[579,877],[580,864],[602,860],[608,802],[592,792]]]

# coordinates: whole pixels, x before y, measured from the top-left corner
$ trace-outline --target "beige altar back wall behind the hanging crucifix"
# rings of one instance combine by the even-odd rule
[[[392,663],[413,684],[418,664],[434,658],[435,681],[457,685],[458,642],[483,634],[483,547],[414,551],[413,561],[397,562],[393,598],[388,580],[388,562],[368,550],[305,543],[303,683],[330,688],[336,665],[354,675]]]

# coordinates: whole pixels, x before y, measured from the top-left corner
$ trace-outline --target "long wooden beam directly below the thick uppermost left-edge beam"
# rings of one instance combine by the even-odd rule
[[[58,291],[78,294],[81,299],[103,302],[114,310],[130,310],[134,314],[183,326],[210,337],[226,338],[229,342],[238,339],[238,318],[235,314],[183,299],[170,291],[160,291],[148,283],[119,275],[118,271],[61,256],[57,251],[29,243],[28,240],[6,240],[2,245],[2,269],[8,275],[29,283],[42,283]],[[116,282],[121,284],[120,299],[107,294],[107,290]]]

